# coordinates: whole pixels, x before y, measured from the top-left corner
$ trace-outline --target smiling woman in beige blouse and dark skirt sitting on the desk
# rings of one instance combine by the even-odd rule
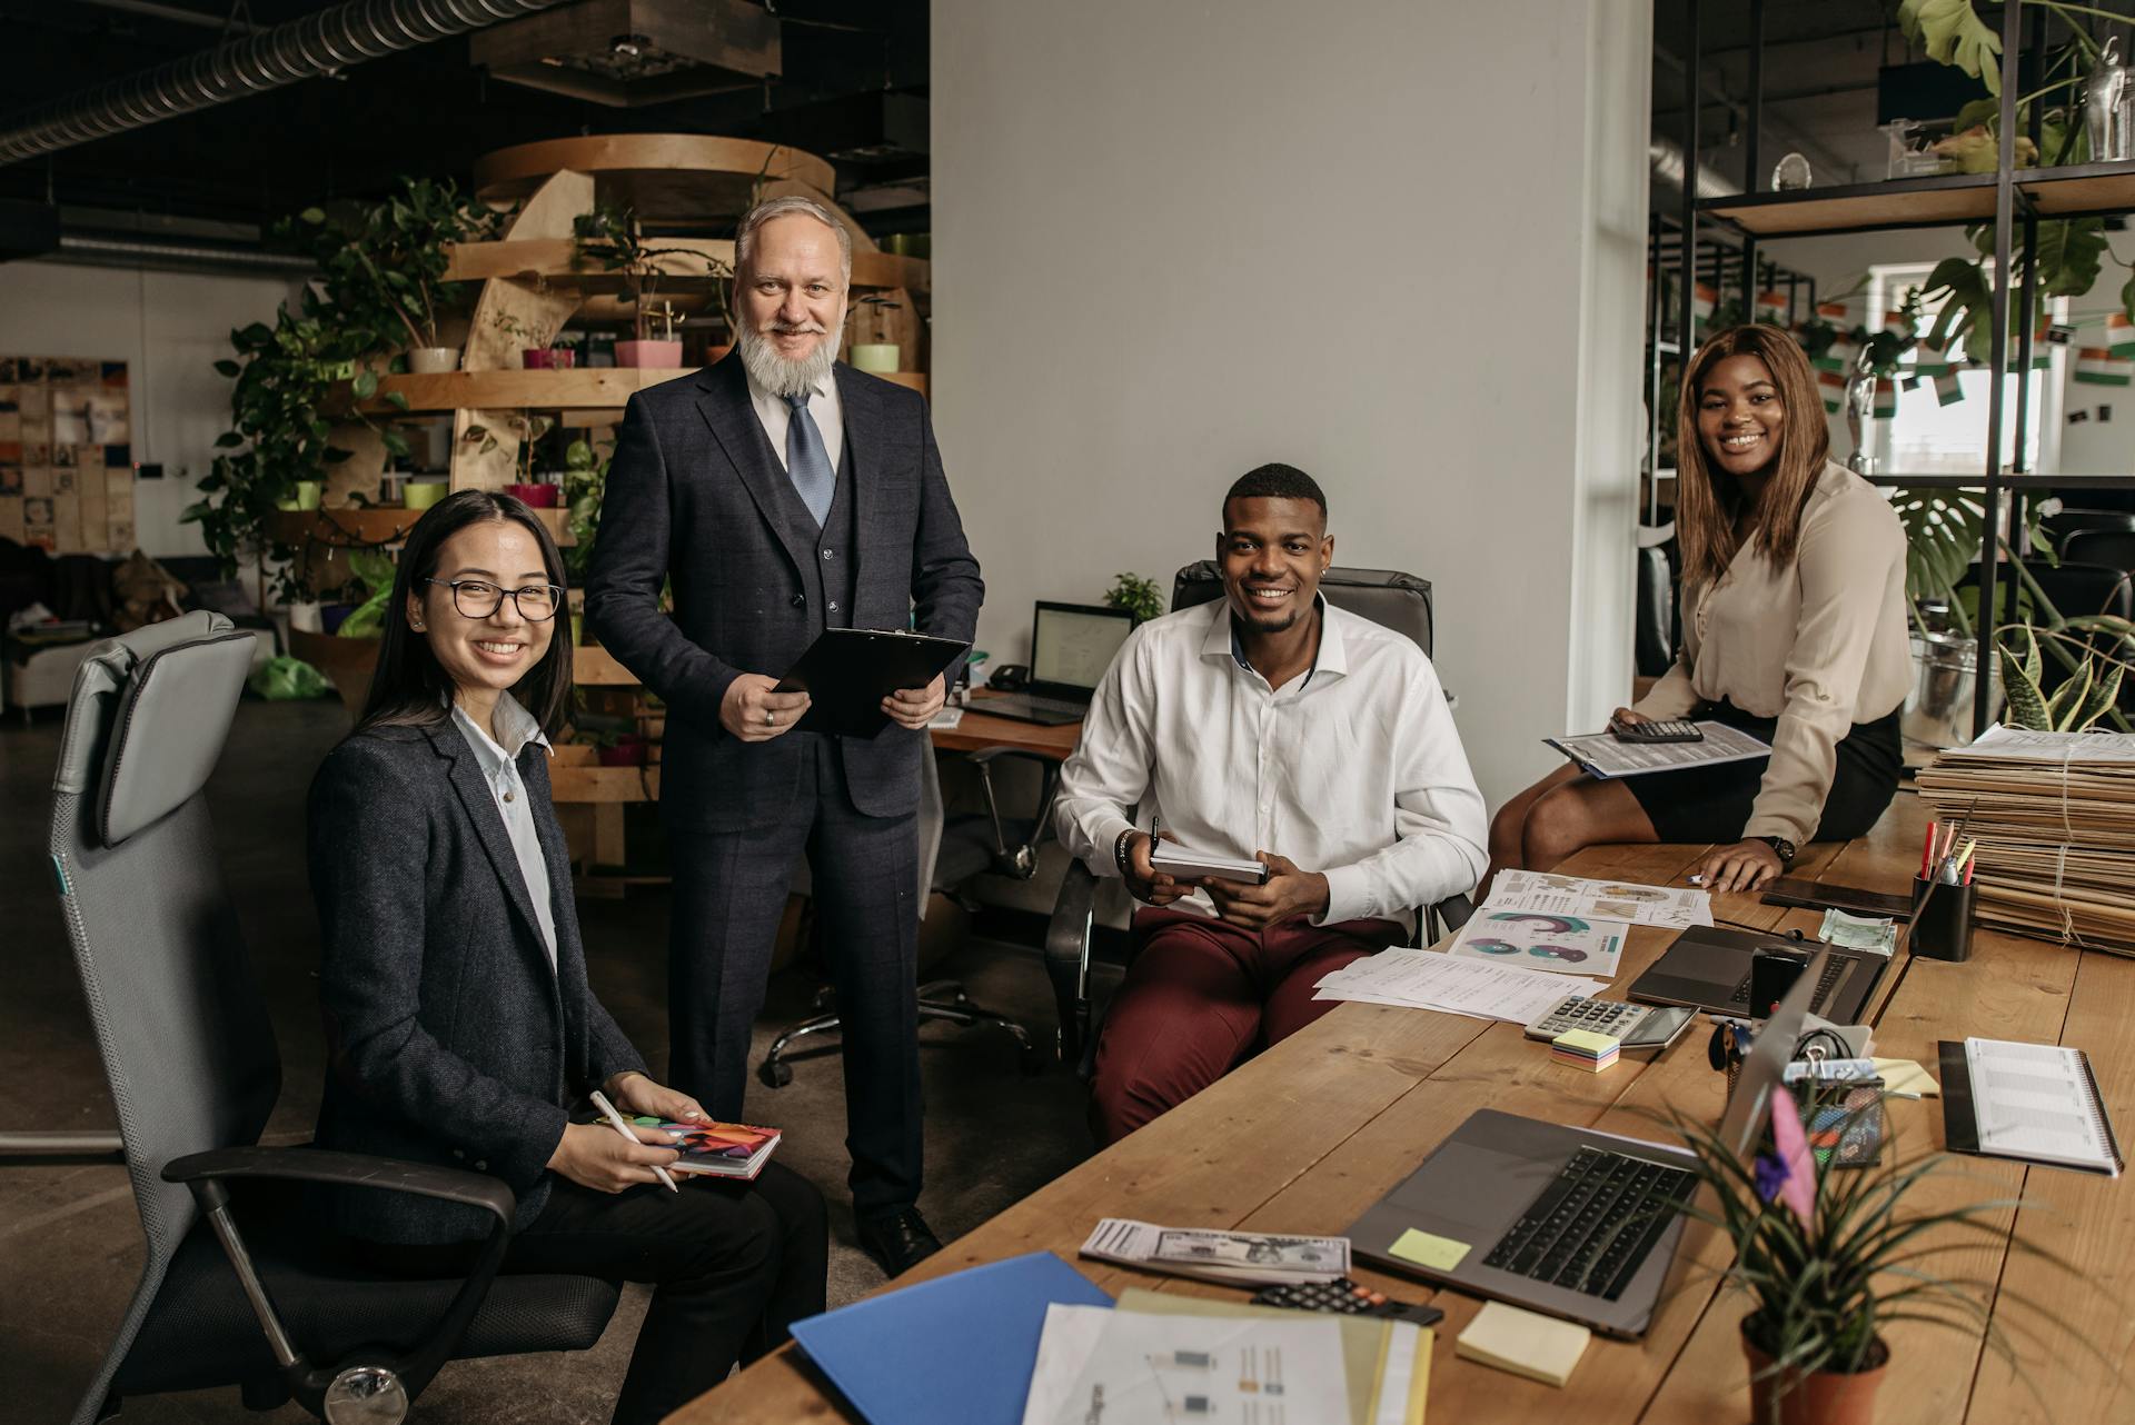
[[[1708,717],[1772,755],[1623,781],[1559,768],[1497,813],[1492,875],[1548,870],[1597,843],[1710,840],[1693,875],[1755,890],[1802,843],[1866,832],[1898,791],[1904,531],[1872,484],[1830,461],[1802,348],[1776,326],[1708,341],[1685,373],[1678,433],[1682,651],[1614,721]]]

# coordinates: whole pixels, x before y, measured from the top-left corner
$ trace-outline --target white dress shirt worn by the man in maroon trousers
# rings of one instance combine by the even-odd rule
[[[1157,817],[1200,851],[1287,855],[1328,879],[1317,924],[1392,919],[1475,887],[1488,819],[1439,676],[1409,638],[1319,602],[1319,657],[1268,687],[1217,599],[1134,629],[1061,768],[1068,851]],[[1174,902],[1213,915],[1204,892]]]

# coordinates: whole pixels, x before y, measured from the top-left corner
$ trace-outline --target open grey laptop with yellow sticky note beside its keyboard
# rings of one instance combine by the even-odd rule
[[[1830,954],[1793,981],[1742,1060],[1721,1141],[1744,1158]],[[1682,1242],[1689,1165],[1691,1154],[1667,1143],[1480,1109],[1349,1224],[1349,1250],[1388,1271],[1638,1338]],[[1418,1254],[1433,1265],[1394,1254],[1411,1231],[1424,1233]]]

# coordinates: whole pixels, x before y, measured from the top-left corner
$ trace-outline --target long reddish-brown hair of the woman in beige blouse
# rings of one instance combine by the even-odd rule
[[[1778,399],[1787,405],[1787,425],[1778,437],[1778,469],[1764,486],[1764,523],[1753,535],[1757,553],[1774,570],[1793,563],[1802,544],[1802,508],[1832,459],[1832,433],[1823,425],[1823,397],[1817,373],[1800,343],[1776,326],[1749,324],[1723,331],[1697,348],[1682,373],[1682,401],[1676,412],[1676,535],[1682,540],[1682,582],[1719,582],[1736,557],[1734,516],[1740,491],[1734,476],[1712,465],[1706,442],[1697,433],[1697,403],[1706,375],[1729,356],[1755,356],[1772,373]]]

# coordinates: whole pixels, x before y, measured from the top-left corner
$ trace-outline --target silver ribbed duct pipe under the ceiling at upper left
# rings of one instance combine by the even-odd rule
[[[265,94],[557,4],[564,0],[350,0],[32,109],[0,132],[0,164]]]

